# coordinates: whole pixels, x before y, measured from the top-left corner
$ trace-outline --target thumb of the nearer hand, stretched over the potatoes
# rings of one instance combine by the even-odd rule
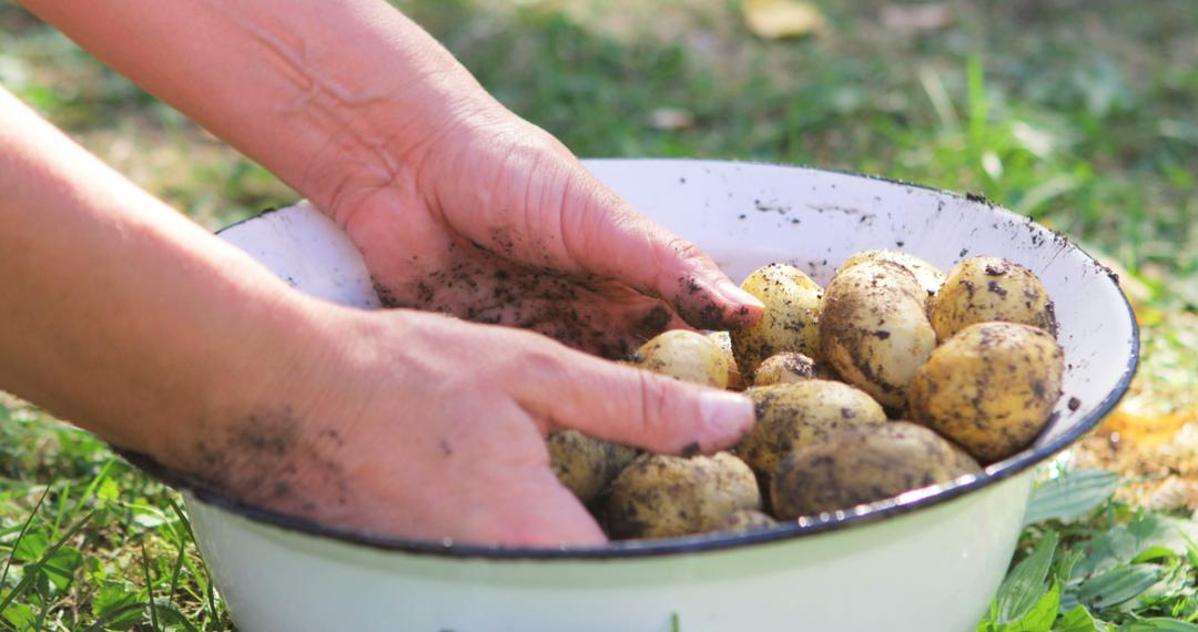
[[[534,419],[655,452],[712,452],[754,424],[740,394],[718,390],[565,348],[522,354],[516,401]]]

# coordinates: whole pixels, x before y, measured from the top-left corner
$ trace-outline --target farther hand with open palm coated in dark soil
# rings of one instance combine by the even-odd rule
[[[480,101],[405,126],[431,138],[388,136],[399,158],[387,168],[343,163],[327,209],[386,304],[533,329],[607,358],[667,328],[760,316],[694,244],[639,214],[552,136]]]

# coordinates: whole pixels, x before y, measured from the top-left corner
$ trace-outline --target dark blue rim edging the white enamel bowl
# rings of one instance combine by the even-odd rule
[[[622,159],[624,160],[624,159]],[[634,159],[635,160],[635,159]],[[660,160],[661,159],[645,159],[645,160]],[[603,162],[603,160],[599,160]],[[678,163],[726,163],[726,164],[743,164],[743,165],[769,165],[769,166],[782,166],[791,169],[805,169],[809,171],[823,171],[828,174],[837,174],[853,177],[863,177],[866,180],[887,182],[891,184],[900,184],[903,187],[914,187],[919,189],[925,189],[933,192],[939,195],[948,195],[951,198],[957,198],[966,200],[972,203],[984,203],[994,207],[996,209],[1010,214],[1012,218],[1018,219],[1021,215],[1016,215],[1011,211],[993,205],[985,198],[979,198],[975,195],[961,195],[958,193],[948,192],[943,189],[937,189],[934,187],[928,187],[925,184],[919,184],[914,182],[903,182],[900,180],[887,178],[869,174],[858,174],[853,171],[840,171],[834,169],[815,169],[801,165],[779,165],[770,163],[746,163],[746,162],[733,162],[733,160],[668,160]],[[262,213],[225,226],[219,235],[234,226],[258,219],[262,214],[270,213],[273,209],[264,211]],[[1052,233],[1048,229],[1030,221],[1030,224],[1040,230]],[[1084,254],[1091,261],[1097,263],[1089,253],[1083,250],[1076,243],[1071,243],[1072,248]],[[852,510],[837,511],[834,514],[823,514],[818,517],[804,517],[798,521],[781,523],[778,527],[760,529],[754,531],[732,533],[732,534],[712,534],[712,535],[697,535],[686,537],[672,537],[661,540],[631,540],[631,541],[617,541],[603,547],[563,547],[563,548],[532,548],[532,547],[500,547],[500,546],[484,546],[484,545],[471,545],[471,543],[456,543],[456,542],[437,542],[428,540],[406,540],[403,537],[373,535],[367,533],[353,531],[349,529],[341,529],[338,527],[329,527],[320,524],[317,522],[290,516],[286,514],[280,514],[268,509],[262,509],[254,506],[248,503],[237,500],[236,498],[229,496],[228,493],[214,488],[213,486],[200,481],[193,476],[175,472],[161,463],[155,462],[149,456],[131,452],[127,450],[116,451],[129,463],[137,466],[138,468],[145,470],[151,476],[155,476],[163,482],[175,487],[180,491],[184,491],[192,497],[194,497],[200,503],[206,505],[212,505],[214,508],[236,514],[253,522],[267,524],[283,530],[297,531],[305,535],[311,535],[326,540],[333,540],[341,543],[356,545],[363,547],[370,547],[381,551],[393,551],[400,553],[413,553],[423,555],[437,555],[448,558],[483,558],[494,560],[552,560],[552,559],[564,559],[564,560],[615,560],[615,559],[629,559],[629,558],[647,558],[647,557],[659,557],[659,555],[674,555],[685,553],[706,553],[713,551],[722,551],[728,548],[739,548],[750,545],[761,545],[779,542],[783,540],[792,540],[795,537],[801,537],[806,535],[815,535],[819,533],[827,533],[839,529],[845,529],[859,524],[866,524],[872,522],[878,522],[885,518],[891,518],[895,516],[901,516],[910,511],[919,509],[938,505],[960,498],[968,494],[975,490],[994,485],[999,481],[1015,476],[1021,472],[1041,463],[1057,452],[1064,450],[1070,444],[1079,439],[1091,429],[1094,429],[1099,421],[1106,418],[1114,407],[1123,399],[1127,388],[1131,385],[1132,377],[1136,375],[1136,369],[1139,364],[1139,326],[1136,322],[1135,311],[1132,311],[1131,304],[1127,302],[1127,297],[1119,288],[1118,280],[1112,276],[1111,282],[1115,284],[1115,290],[1124,300],[1124,305],[1127,309],[1129,322],[1131,323],[1131,354],[1127,359],[1127,364],[1119,383],[1100,403],[1099,406],[1085,418],[1083,418],[1072,430],[1061,434],[1055,440],[1049,442],[1045,445],[1031,450],[1023,450],[1015,456],[1011,456],[1004,461],[991,464],[986,468],[985,473],[975,476],[967,476],[958,479],[957,481],[949,482],[945,485],[939,485],[930,488],[925,488],[915,494],[909,494],[908,498],[904,497],[891,498],[887,500],[879,500],[871,503],[869,505],[859,505]],[[907,494],[904,494],[907,496]]]

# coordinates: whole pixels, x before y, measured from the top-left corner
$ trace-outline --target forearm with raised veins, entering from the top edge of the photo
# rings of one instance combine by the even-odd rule
[[[341,174],[411,177],[422,139],[489,99],[382,0],[25,4],[326,209]]]

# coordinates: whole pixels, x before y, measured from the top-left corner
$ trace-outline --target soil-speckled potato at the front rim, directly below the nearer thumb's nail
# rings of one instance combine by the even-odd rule
[[[760,509],[757,480],[728,452],[691,458],[641,455],[611,484],[612,537],[672,537],[719,529],[738,509]]]

